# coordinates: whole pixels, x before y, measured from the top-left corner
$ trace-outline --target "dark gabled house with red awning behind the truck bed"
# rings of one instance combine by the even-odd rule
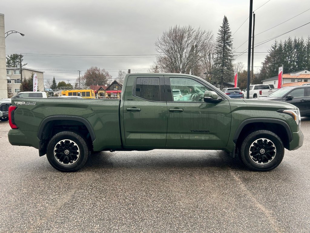
[[[104,86],[91,85],[90,88],[95,91],[96,98],[119,99],[122,93],[122,84],[116,80]]]

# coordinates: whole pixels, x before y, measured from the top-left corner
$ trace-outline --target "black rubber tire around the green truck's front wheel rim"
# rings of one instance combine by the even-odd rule
[[[250,145],[257,139],[260,138],[265,138],[269,139],[273,142],[273,144],[276,147],[276,156],[273,158],[273,160],[267,164],[258,164],[255,163],[251,158],[250,158]],[[249,167],[252,170],[255,171],[269,171],[272,170],[273,168],[277,167],[284,156],[284,147],[281,139],[274,133],[267,131],[267,130],[262,130],[262,131],[255,131],[248,135],[243,143],[241,144],[241,159],[243,163]]]

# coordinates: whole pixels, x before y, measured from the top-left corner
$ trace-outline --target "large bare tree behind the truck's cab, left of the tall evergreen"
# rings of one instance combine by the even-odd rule
[[[175,25],[155,42],[155,67],[163,72],[201,74],[202,57],[213,42],[212,31]]]

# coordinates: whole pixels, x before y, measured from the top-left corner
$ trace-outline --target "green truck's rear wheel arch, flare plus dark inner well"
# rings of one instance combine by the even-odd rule
[[[80,133],[82,136],[86,138],[86,140],[92,144],[95,140],[95,133],[94,130],[85,118],[78,117],[78,116],[65,116],[65,115],[58,115],[58,116],[51,116],[45,118],[38,129],[38,139],[39,139],[39,156],[46,154],[46,146],[53,135],[59,132],[61,127],[55,129],[55,125],[61,125],[63,130],[72,130]],[[74,130],[74,127],[76,128]],[[84,128],[83,132],[79,132],[79,127]],[[71,128],[71,129],[70,129]],[[73,129],[72,129],[73,128]],[[88,136],[89,134],[89,136]]]

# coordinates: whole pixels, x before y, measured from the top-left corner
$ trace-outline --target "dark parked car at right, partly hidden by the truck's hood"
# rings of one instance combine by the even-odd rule
[[[256,99],[290,103],[299,108],[300,116],[310,117],[310,86],[308,85],[282,87],[267,97]]]

